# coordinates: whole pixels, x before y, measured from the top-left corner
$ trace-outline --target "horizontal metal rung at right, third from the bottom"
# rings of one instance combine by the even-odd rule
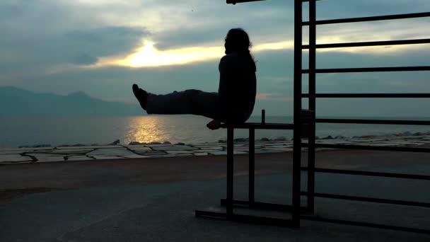
[[[308,171],[307,167],[302,167],[301,171]],[[320,173],[335,173],[335,174],[346,174],[346,175],[368,175],[368,176],[380,176],[385,178],[402,178],[402,179],[415,179],[415,180],[430,180],[430,175],[414,175],[414,174],[401,174],[401,173],[385,173],[375,171],[351,171],[351,170],[339,170],[339,169],[327,169],[327,168],[314,168],[316,172]]]

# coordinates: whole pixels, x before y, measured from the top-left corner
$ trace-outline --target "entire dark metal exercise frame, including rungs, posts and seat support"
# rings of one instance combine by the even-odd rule
[[[227,3],[236,4],[247,1],[262,0],[227,0]],[[316,50],[319,48],[336,48],[336,47],[364,47],[378,45],[413,45],[430,43],[430,39],[422,40],[390,40],[390,41],[371,41],[371,42],[350,42],[335,44],[316,44],[316,26],[333,23],[356,23],[363,21],[385,21],[405,18],[422,18],[430,17],[430,12],[408,13],[390,16],[371,16],[364,18],[343,18],[334,20],[317,21],[316,20],[316,1],[320,0],[294,0],[294,123],[293,124],[266,124],[245,123],[243,125],[223,125],[227,128],[228,145],[227,145],[227,196],[221,200],[221,204],[226,206],[226,212],[211,212],[196,210],[196,217],[212,217],[218,219],[227,219],[230,221],[242,221],[257,224],[269,224],[276,226],[294,226],[300,227],[300,220],[306,219],[311,221],[324,221],[336,224],[349,224],[354,226],[371,226],[379,229],[395,229],[398,231],[409,231],[422,234],[430,234],[430,230],[408,228],[403,226],[390,226],[385,224],[372,224],[367,221],[347,221],[342,219],[327,219],[306,215],[313,213],[315,206],[315,197],[322,197],[337,200],[355,200],[360,202],[376,202],[397,204],[416,207],[430,207],[430,203],[412,202],[404,200],[388,200],[375,197],[359,197],[347,195],[335,195],[315,192],[315,173],[338,173],[348,175],[371,175],[386,178],[402,178],[415,180],[430,180],[430,175],[414,175],[400,173],[381,173],[370,171],[349,171],[329,168],[315,168],[315,148],[335,148],[335,149],[366,149],[379,151],[410,151],[430,153],[430,148],[414,147],[391,147],[391,146],[361,146],[361,145],[344,145],[344,144],[317,144],[315,142],[315,124],[317,122],[325,123],[361,123],[361,124],[380,124],[380,125],[430,125],[430,121],[421,120],[354,120],[354,119],[321,119],[315,118],[316,98],[429,98],[428,93],[316,93],[315,83],[316,74],[318,73],[349,73],[349,72],[373,72],[373,71],[430,71],[430,67],[372,67],[372,68],[344,68],[344,69],[316,69]],[[303,21],[302,11],[303,2],[309,2],[309,21]],[[303,26],[309,26],[309,45],[303,45]],[[302,69],[303,50],[309,50],[309,69]],[[302,75],[309,74],[309,93],[302,93]],[[301,118],[302,99],[309,98],[309,110],[313,116],[306,122]],[[308,125],[308,143],[302,142],[303,124]],[[234,129],[249,129],[250,137],[250,181],[248,201],[234,200],[233,197],[233,132]],[[294,151],[293,151],[293,184],[292,184],[292,204],[271,204],[266,202],[255,201],[254,177],[255,177],[255,129],[292,129],[294,131]],[[301,167],[301,149],[308,147],[308,167]],[[308,191],[301,191],[301,171],[308,173]],[[310,184],[309,184],[310,183]],[[301,195],[306,196],[308,202],[306,207],[301,207]],[[245,214],[235,214],[234,206],[245,206],[251,209],[269,209],[279,212],[291,212],[290,219],[277,219],[270,217],[257,217]]]

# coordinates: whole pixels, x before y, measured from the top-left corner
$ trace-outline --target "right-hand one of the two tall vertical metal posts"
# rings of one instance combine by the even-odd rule
[[[315,69],[316,69],[316,1],[309,0],[309,110],[313,111],[308,136],[308,211],[314,212],[315,204]]]

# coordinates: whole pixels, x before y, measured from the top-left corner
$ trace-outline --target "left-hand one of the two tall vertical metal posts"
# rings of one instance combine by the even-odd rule
[[[302,0],[294,1],[293,225],[300,226]]]

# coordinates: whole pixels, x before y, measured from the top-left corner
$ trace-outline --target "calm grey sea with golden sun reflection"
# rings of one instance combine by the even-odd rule
[[[338,117],[342,118],[342,117]],[[343,117],[351,118],[351,117]],[[414,117],[359,117],[363,119],[430,120]],[[268,116],[266,122],[291,123],[293,118]],[[103,145],[119,139],[129,142],[170,142],[172,144],[202,144],[225,140],[226,129],[210,130],[206,117],[194,115],[141,116],[9,116],[0,117],[0,147],[59,145]],[[261,122],[261,117],[250,117],[248,122]],[[357,125],[317,124],[318,137],[354,137],[367,135],[414,134],[430,132],[430,127],[419,125]],[[256,130],[255,138],[291,139],[291,130]],[[236,130],[235,138],[248,137],[247,130]]]

